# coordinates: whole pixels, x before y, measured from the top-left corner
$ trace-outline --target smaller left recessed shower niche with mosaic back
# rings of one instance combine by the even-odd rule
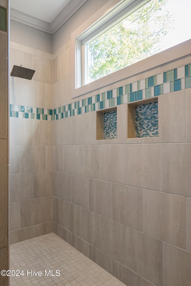
[[[117,109],[96,112],[96,140],[117,139]]]

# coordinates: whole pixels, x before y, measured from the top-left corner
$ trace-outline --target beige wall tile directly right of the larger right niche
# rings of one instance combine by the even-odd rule
[[[159,97],[159,139],[161,142],[185,142],[185,90]]]

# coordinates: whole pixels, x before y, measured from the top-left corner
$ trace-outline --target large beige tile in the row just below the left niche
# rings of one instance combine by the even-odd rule
[[[100,179],[125,184],[125,145],[100,145]]]

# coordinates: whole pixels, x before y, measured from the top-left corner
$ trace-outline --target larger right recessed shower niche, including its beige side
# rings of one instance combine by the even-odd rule
[[[127,139],[158,137],[158,97],[127,104]]]

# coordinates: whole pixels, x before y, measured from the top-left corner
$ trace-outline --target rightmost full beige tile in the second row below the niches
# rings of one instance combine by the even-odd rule
[[[143,232],[186,248],[186,198],[143,190]]]

